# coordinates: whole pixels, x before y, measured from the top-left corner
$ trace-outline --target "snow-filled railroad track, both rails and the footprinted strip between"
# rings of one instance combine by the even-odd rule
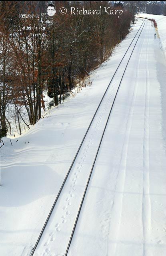
[[[116,95],[144,24],[142,20],[140,33],[134,36],[100,101],[30,256],[68,254]]]

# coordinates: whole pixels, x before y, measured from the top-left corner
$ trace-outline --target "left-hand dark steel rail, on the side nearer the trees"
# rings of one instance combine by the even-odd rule
[[[142,20],[142,19],[141,19],[141,20]],[[140,26],[138,32],[140,31],[140,29],[141,29],[143,23],[144,23],[144,20],[142,20],[142,24],[141,24],[141,26]],[[145,23],[144,23],[144,24],[145,24]],[[143,25],[143,27],[144,27],[144,25]],[[142,29],[143,29],[143,28],[142,28]],[[136,35],[134,36],[132,42],[133,42],[134,39],[136,38],[138,32],[137,32]],[[142,30],[141,30],[141,32],[142,32]],[[140,35],[139,35],[139,36],[140,36]],[[139,36],[138,36],[138,38],[139,38]],[[137,41],[138,41],[138,39],[137,39]],[[128,52],[128,50],[129,50],[129,48],[130,48],[132,42],[131,42],[130,45],[128,46],[128,48],[127,48],[127,50],[126,50],[126,52],[125,52],[125,54],[124,54],[122,60],[123,60],[124,57],[126,56],[126,53]],[[134,47],[135,47],[135,46],[134,46]],[[83,144],[83,142],[84,142],[84,139],[86,138],[86,135],[87,135],[87,133],[88,133],[88,131],[89,131],[89,129],[90,129],[90,126],[91,126],[91,124],[92,124],[92,122],[93,122],[93,120],[94,120],[94,118],[95,118],[95,116],[96,116],[96,113],[98,112],[98,109],[99,109],[99,107],[100,107],[100,105],[101,105],[101,103],[102,103],[102,100],[104,99],[104,96],[106,95],[106,92],[107,92],[107,90],[108,90],[108,88],[109,88],[109,86],[110,86],[110,84],[111,84],[111,82],[112,82],[112,80],[113,80],[113,78],[114,78],[114,76],[115,76],[115,74],[116,74],[116,72],[117,72],[117,70],[118,70],[120,64],[122,63],[122,60],[120,61],[118,67],[116,68],[116,70],[115,70],[115,72],[114,72],[114,75],[112,76],[112,78],[111,78],[111,80],[110,80],[110,82],[109,82],[109,84],[108,84],[108,86],[107,86],[107,88],[106,88],[106,91],[104,92],[104,95],[102,96],[102,99],[100,100],[100,103],[99,103],[99,105],[98,105],[98,107],[97,107],[97,109],[96,109],[96,111],[95,111],[95,113],[94,113],[94,116],[92,117],[92,120],[91,120],[91,122],[90,122],[90,124],[89,124],[89,126],[88,126],[88,129],[86,130],[86,133],[85,133],[85,135],[84,135],[84,138],[82,139],[82,142],[80,143],[80,146],[79,146],[79,148],[78,148],[78,150],[77,150],[77,152],[76,152],[76,155],[74,156],[74,159],[73,159],[73,161],[72,161],[72,164],[71,164],[71,166],[70,166],[70,168],[69,168],[69,170],[68,170],[68,172],[67,172],[67,174],[66,174],[66,176],[65,176],[65,178],[64,178],[64,181],[63,181],[63,183],[62,183],[62,185],[61,185],[61,187],[60,187],[60,190],[59,190],[59,192],[58,192],[58,194],[57,194],[57,196],[56,196],[56,199],[55,199],[55,201],[54,201],[54,204],[52,205],[52,208],[51,208],[51,210],[50,210],[50,212],[49,212],[49,214],[48,214],[48,217],[47,217],[47,219],[46,219],[46,221],[45,221],[45,223],[44,223],[44,226],[43,226],[43,228],[42,228],[42,230],[41,230],[41,232],[40,232],[40,234],[39,234],[39,236],[38,236],[38,239],[37,239],[37,241],[36,241],[36,244],[35,244],[34,247],[32,248],[32,251],[31,251],[31,253],[30,253],[30,256],[33,256],[33,254],[34,254],[34,252],[35,252],[35,250],[36,250],[36,247],[38,246],[38,243],[39,243],[39,241],[40,241],[40,238],[42,237],[42,234],[43,234],[43,232],[44,232],[44,230],[45,230],[45,228],[46,228],[46,225],[47,225],[47,223],[48,223],[48,220],[50,219],[50,216],[51,216],[51,214],[52,214],[52,212],[53,212],[53,210],[54,210],[54,207],[55,207],[55,205],[56,205],[56,203],[57,203],[57,201],[58,201],[58,198],[59,198],[59,196],[60,196],[60,194],[61,194],[61,192],[62,192],[62,189],[63,189],[63,187],[64,187],[64,184],[66,183],[66,180],[67,180],[67,178],[68,178],[68,176],[69,176],[69,174],[70,174],[70,171],[71,171],[71,169],[72,169],[72,166],[74,165],[74,162],[75,162],[75,160],[76,160],[76,157],[78,156],[78,153],[79,153],[80,148],[81,148],[81,146],[82,146],[82,144]],[[67,254],[65,254],[65,255],[67,255]]]

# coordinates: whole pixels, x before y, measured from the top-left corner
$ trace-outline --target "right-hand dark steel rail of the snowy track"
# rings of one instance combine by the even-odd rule
[[[144,22],[144,25],[145,25],[145,22]],[[144,26],[142,27],[142,30],[143,30],[143,28],[144,28]],[[141,30],[141,32],[142,32],[142,30]],[[140,34],[141,34],[141,32],[140,32]],[[139,39],[139,37],[140,37],[140,35],[138,36],[138,39]],[[136,40],[136,44],[137,44],[138,39]],[[134,45],[134,48],[135,48],[136,44]],[[133,48],[133,50],[132,50],[132,53],[133,53],[133,51],[134,51],[134,48]],[[132,56],[132,53],[131,53],[131,55],[130,55],[130,58],[131,58],[131,56]],[[129,61],[130,61],[130,58],[128,59],[128,62],[127,62],[127,64],[126,64],[126,68],[127,68],[128,63],[129,63]],[[126,71],[126,68],[125,68],[125,70],[124,70],[124,72],[123,72],[123,74],[122,74],[122,78],[121,78],[121,80],[120,80],[120,84],[121,84],[122,79],[123,79],[123,77],[124,77],[124,73],[125,73],[125,71]],[[119,90],[119,88],[120,88],[120,84],[119,84],[119,86],[118,86],[118,90]],[[79,210],[78,210],[78,214],[77,214],[77,217],[76,217],[76,220],[75,220],[75,223],[74,223],[74,227],[73,227],[73,230],[72,230],[72,234],[71,234],[71,236],[70,236],[70,240],[69,240],[69,243],[68,243],[68,246],[67,246],[67,249],[66,249],[66,253],[64,254],[64,256],[67,256],[68,250],[69,250],[69,248],[70,248],[70,244],[71,244],[71,242],[72,242],[72,238],[73,238],[73,235],[74,235],[74,231],[75,231],[75,229],[76,229],[76,225],[77,225],[77,222],[78,222],[78,218],[79,218],[79,216],[80,216],[82,204],[83,204],[83,202],[84,202],[84,198],[85,198],[85,195],[86,195],[86,191],[87,191],[87,189],[88,189],[88,185],[89,185],[89,182],[90,182],[90,177],[91,177],[91,175],[92,175],[92,171],[93,171],[93,168],[94,168],[94,165],[95,165],[95,162],[96,162],[96,158],[97,158],[97,156],[98,156],[98,152],[99,152],[99,150],[100,150],[100,146],[101,146],[102,139],[103,139],[103,136],[104,136],[104,133],[105,133],[105,130],[106,130],[106,126],[107,126],[108,121],[109,121],[109,119],[110,119],[110,114],[111,114],[111,112],[112,112],[112,108],[113,108],[113,106],[114,106],[114,102],[115,102],[115,100],[116,100],[116,96],[117,96],[117,94],[118,94],[118,90],[117,90],[117,92],[116,92],[116,94],[115,94],[114,101],[113,101],[113,103],[112,103],[112,106],[111,106],[111,109],[110,109],[110,112],[109,112],[109,115],[108,115],[108,118],[107,118],[107,121],[106,121],[106,125],[105,125],[104,130],[103,130],[103,133],[102,133],[102,137],[101,137],[101,140],[100,140],[100,143],[99,143],[97,152],[96,152],[96,156],[95,156],[95,158],[94,158],[94,162],[93,162],[93,164],[92,164],[92,168],[91,168],[91,170],[90,170],[90,175],[89,175],[89,177],[88,177],[88,182],[87,182],[86,188],[85,188],[85,190],[84,190],[84,194],[83,194],[83,197],[82,197],[82,200],[81,200],[81,203],[80,203],[80,208],[79,208]]]

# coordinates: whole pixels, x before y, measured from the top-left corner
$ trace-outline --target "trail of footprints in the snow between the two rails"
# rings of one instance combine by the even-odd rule
[[[88,151],[91,150],[92,144],[94,144],[94,141],[95,141],[95,138],[96,138],[96,134],[99,133],[98,130],[102,126],[101,125],[102,120],[104,119],[104,117],[106,115],[106,112],[108,112],[108,106],[110,105],[111,98],[112,98],[112,95],[109,98],[107,98],[108,99],[107,102],[104,105],[102,105],[100,116],[98,116],[98,119],[96,119],[96,122],[94,123],[94,126],[91,130],[92,133],[90,134],[90,137],[87,140],[88,143],[87,143],[87,145],[85,144],[86,147],[83,149],[82,154],[80,154],[80,157],[79,157],[80,161],[76,163],[76,168],[73,169],[74,172],[72,173],[72,176],[71,176],[72,182],[70,180],[71,183],[68,184],[70,186],[70,188],[68,186],[68,188],[69,188],[67,190],[68,193],[66,194],[66,197],[65,197],[66,202],[64,202],[64,204],[61,205],[62,213],[60,215],[60,217],[61,217],[60,221],[59,221],[59,223],[57,222],[57,224],[55,225],[55,228],[54,228],[53,232],[51,232],[49,234],[49,238],[48,238],[49,240],[47,241],[47,243],[45,245],[46,247],[44,248],[46,250],[45,250],[45,252],[43,251],[44,254],[46,254],[47,256],[51,256],[50,255],[51,252],[49,252],[49,246],[48,246],[49,243],[56,240],[56,236],[58,237],[58,235],[59,235],[56,232],[60,232],[60,230],[62,232],[62,230],[64,230],[64,228],[66,226],[66,225],[63,226],[63,224],[68,222],[69,219],[70,219],[70,215],[71,215],[70,211],[72,209],[72,208],[70,208],[70,206],[74,203],[74,199],[77,195],[76,192],[75,192],[76,188],[77,188],[76,183],[78,182],[79,178],[81,177],[80,172],[81,171],[83,172],[83,170],[84,170],[84,168],[82,168],[82,167],[83,166],[85,167],[85,164],[86,164],[85,162],[87,161],[87,156],[89,156],[89,154],[87,154],[87,153],[88,153]],[[65,134],[62,133],[62,136],[64,136],[64,135]],[[54,156],[52,155],[52,157],[54,157]],[[74,199],[72,199],[72,198],[74,198]],[[101,231],[102,231],[102,234],[103,234],[104,237],[106,237],[106,235],[107,235],[108,223],[109,223],[109,218],[108,218],[108,216],[105,216],[105,220],[103,221],[103,223],[100,224]]]

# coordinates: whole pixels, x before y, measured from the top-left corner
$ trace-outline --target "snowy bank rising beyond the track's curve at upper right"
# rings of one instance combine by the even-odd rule
[[[142,18],[156,20],[158,34],[160,36],[160,42],[162,44],[162,48],[163,48],[164,54],[166,56],[166,16],[147,14],[147,13],[140,13],[137,16],[142,17]]]

